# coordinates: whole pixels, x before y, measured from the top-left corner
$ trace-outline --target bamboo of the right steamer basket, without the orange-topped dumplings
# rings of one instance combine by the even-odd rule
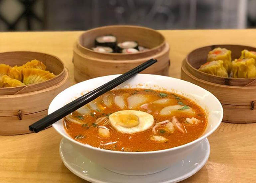
[[[223,122],[255,123],[256,78],[225,78],[203,73],[198,68],[207,60],[207,54],[221,47],[232,51],[232,60],[241,56],[244,49],[256,48],[243,45],[211,45],[190,52],[181,66],[181,79],[205,88],[214,94],[224,109]]]

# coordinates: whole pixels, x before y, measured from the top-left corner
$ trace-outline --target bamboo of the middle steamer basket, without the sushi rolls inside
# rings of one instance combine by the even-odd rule
[[[149,50],[120,54],[99,53],[90,49],[94,46],[96,37],[109,34],[116,36],[118,42],[137,41],[139,45]],[[156,30],[139,26],[105,26],[87,30],[74,44],[73,53],[76,82],[105,75],[122,74],[151,58],[157,59],[158,62],[142,73],[168,76],[170,66],[169,45],[164,36]]]

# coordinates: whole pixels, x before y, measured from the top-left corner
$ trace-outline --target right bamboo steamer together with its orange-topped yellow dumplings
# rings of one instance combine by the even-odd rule
[[[211,45],[190,52],[181,79],[213,93],[224,109],[224,122],[256,122],[256,48]]]

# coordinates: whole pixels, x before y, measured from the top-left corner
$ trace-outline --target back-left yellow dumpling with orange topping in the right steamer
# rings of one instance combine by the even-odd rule
[[[215,48],[210,51],[208,54],[208,62],[214,60],[223,60],[223,66],[227,70],[228,74],[230,74],[232,70],[232,62],[231,62],[231,51],[226,48]]]

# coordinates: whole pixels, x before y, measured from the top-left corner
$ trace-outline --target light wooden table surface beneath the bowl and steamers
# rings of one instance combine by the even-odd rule
[[[210,44],[256,47],[256,30],[161,30],[170,44],[170,76],[180,77],[186,54]],[[38,51],[56,55],[74,84],[72,47],[82,31],[0,33],[0,52]],[[239,97],[239,96],[238,96]],[[33,101],[31,101],[33,102]],[[208,138],[206,165],[183,182],[256,182],[256,123],[222,123]],[[0,136],[0,182],[86,182],[72,174],[59,156],[61,136],[53,128],[37,134]]]

